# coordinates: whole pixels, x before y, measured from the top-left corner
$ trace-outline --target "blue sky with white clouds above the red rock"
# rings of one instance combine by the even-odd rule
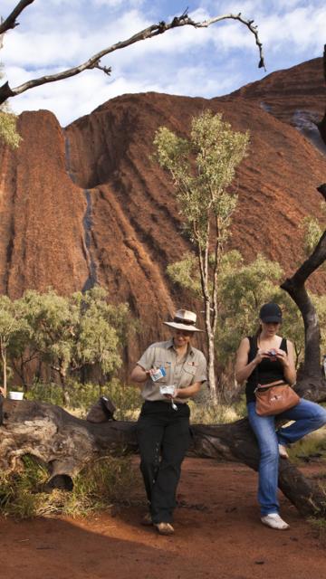
[[[18,0],[1,0],[6,17]],[[11,87],[86,61],[113,43],[175,15],[195,21],[242,13],[258,24],[267,71],[258,69],[254,35],[244,24],[185,26],[111,53],[109,76],[84,71],[72,79],[27,90],[10,100],[14,112],[48,109],[62,127],[125,93],[155,90],[205,97],[227,94],[273,71],[321,56],[326,43],[325,0],[35,0],[5,34],[0,61]]]

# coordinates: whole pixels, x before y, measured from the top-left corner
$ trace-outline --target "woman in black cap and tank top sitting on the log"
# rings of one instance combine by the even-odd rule
[[[279,515],[277,499],[279,458],[288,459],[288,444],[326,424],[326,411],[317,403],[299,398],[290,409],[281,410],[281,413],[279,409],[280,419],[294,422],[276,432],[275,415],[260,413],[256,405],[257,385],[265,393],[273,386],[277,393],[278,386],[295,384],[296,372],[292,342],[277,334],[282,323],[281,308],[273,302],[264,304],[259,318],[256,336],[244,337],[238,348],[235,379],[239,383],[246,381],[248,419],[260,450],[258,501],[261,521],[268,527],[285,530],[289,525]],[[275,394],[274,398],[277,397]]]

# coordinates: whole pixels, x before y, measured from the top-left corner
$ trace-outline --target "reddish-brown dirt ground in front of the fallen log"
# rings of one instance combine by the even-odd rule
[[[321,469],[324,467],[320,467]],[[184,463],[176,535],[139,526],[144,500],[88,519],[0,519],[4,579],[326,579],[326,552],[312,527],[281,497],[291,525],[259,521],[256,475],[215,460]]]

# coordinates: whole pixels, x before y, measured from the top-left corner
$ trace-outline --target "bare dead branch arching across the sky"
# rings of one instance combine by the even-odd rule
[[[9,28],[14,28],[14,26],[17,25],[15,20],[17,15],[20,14],[27,5],[32,4],[33,2],[34,0],[22,0],[21,2],[19,2],[19,4],[16,5],[12,14],[10,14],[8,18],[5,20],[5,22],[0,26],[0,33],[4,33]],[[46,75],[38,79],[24,82],[24,84],[21,84],[13,89],[9,86],[8,82],[5,82],[5,84],[2,87],[0,87],[0,104],[5,102],[5,100],[9,99],[10,97],[14,97],[18,94],[21,94],[25,90],[33,89],[34,87],[46,84],[48,82],[62,81],[63,79],[68,79],[72,76],[75,76],[76,74],[80,74],[82,71],[98,68],[101,69],[101,71],[104,71],[106,74],[110,74],[110,67],[101,66],[100,64],[101,58],[103,56],[106,56],[107,54],[110,54],[111,52],[115,52],[122,48],[126,48],[131,44],[139,43],[139,41],[141,40],[146,40],[148,38],[158,36],[158,34],[166,33],[168,30],[171,30],[172,28],[178,28],[180,26],[193,26],[194,28],[206,28],[211,24],[216,24],[217,22],[221,22],[222,20],[230,20],[230,19],[237,20],[241,24],[245,24],[245,26],[249,29],[249,31],[254,34],[255,43],[258,46],[259,50],[258,67],[259,68],[264,67],[263,46],[259,40],[257,26],[254,25],[254,20],[245,20],[242,17],[241,13],[239,13],[239,14],[225,14],[222,16],[210,18],[209,20],[203,22],[195,22],[187,15],[187,13],[184,13],[181,14],[181,16],[176,16],[169,23],[162,21],[158,24],[152,24],[148,28],[145,28],[139,33],[134,34],[129,39],[121,41],[119,43],[112,44],[108,48],[104,48],[101,52],[97,52],[96,54],[91,56],[91,58],[88,61],[82,62],[82,64],[79,64],[78,66],[75,66],[71,69],[58,72],[57,74]]]

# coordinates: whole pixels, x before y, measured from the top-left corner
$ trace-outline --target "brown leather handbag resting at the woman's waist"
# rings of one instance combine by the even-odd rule
[[[254,394],[256,397],[255,411],[260,416],[284,413],[300,402],[298,394],[283,380],[277,380],[270,384],[257,384]]]

